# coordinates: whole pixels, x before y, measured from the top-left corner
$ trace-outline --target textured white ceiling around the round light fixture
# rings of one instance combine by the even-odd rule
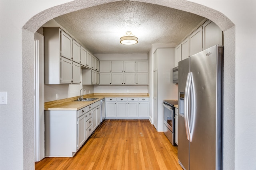
[[[203,17],[155,4],[118,1],[54,18],[94,54],[148,53],[152,44],[177,44]],[[138,37],[136,45],[122,45],[126,31]]]

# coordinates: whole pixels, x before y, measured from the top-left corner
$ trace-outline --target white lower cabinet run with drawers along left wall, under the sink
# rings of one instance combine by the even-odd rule
[[[76,110],[45,111],[45,157],[72,157],[101,123],[100,101]]]

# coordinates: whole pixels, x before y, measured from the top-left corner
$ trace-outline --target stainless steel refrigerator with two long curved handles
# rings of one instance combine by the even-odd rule
[[[223,47],[179,62],[178,160],[186,170],[222,169]]]

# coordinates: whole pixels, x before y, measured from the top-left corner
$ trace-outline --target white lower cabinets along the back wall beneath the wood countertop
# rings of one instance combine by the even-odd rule
[[[148,119],[149,98],[106,98],[105,119]]]

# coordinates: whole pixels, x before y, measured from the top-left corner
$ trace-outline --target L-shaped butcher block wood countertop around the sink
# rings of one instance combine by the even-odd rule
[[[149,98],[148,93],[93,93],[84,98],[98,98],[90,102],[78,102],[79,96],[44,103],[44,110],[79,110],[104,98]]]

